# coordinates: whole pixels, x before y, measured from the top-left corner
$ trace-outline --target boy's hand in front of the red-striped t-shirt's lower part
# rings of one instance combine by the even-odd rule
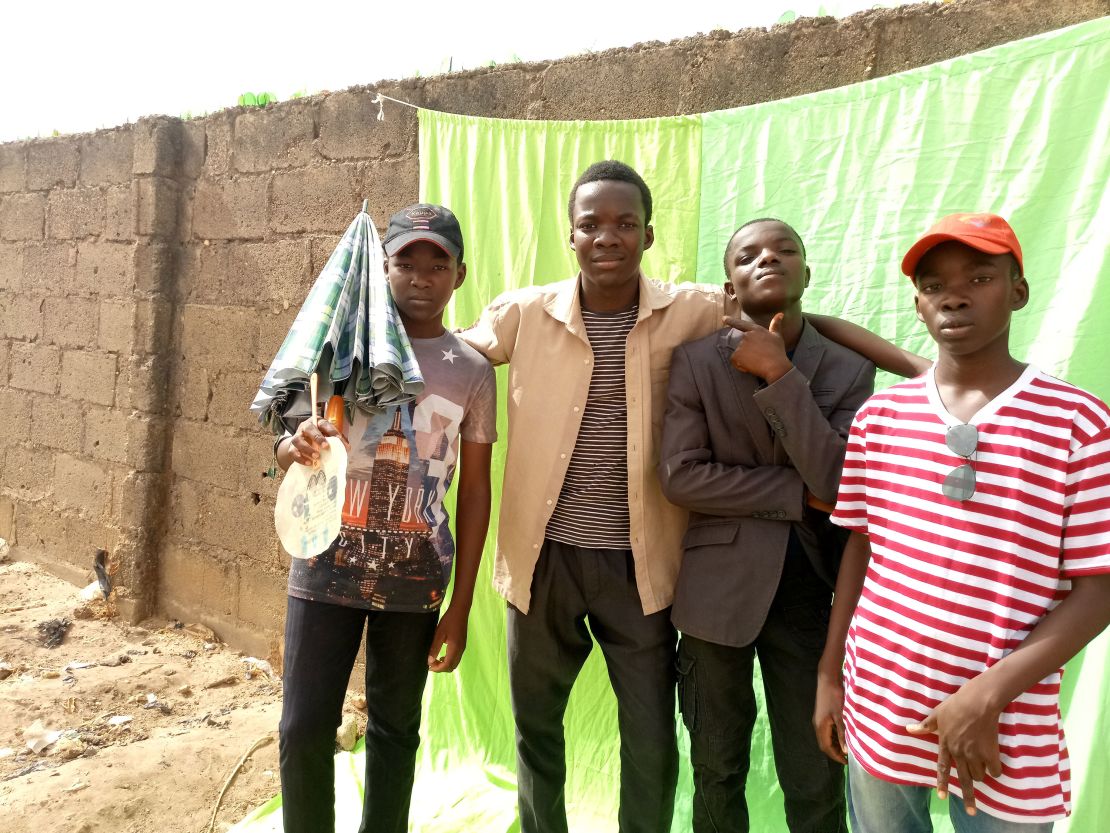
[[[993,777],[1002,774],[998,750],[999,712],[990,709],[987,699],[979,695],[972,684],[973,681],[965,683],[925,720],[906,727],[914,735],[937,735],[937,795],[948,797],[948,779],[955,765],[968,815],[977,812],[975,782],[988,774]]]

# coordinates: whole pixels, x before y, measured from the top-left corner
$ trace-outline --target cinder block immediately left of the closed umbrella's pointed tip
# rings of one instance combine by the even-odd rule
[[[279,233],[342,233],[362,207],[363,183],[351,163],[274,174],[270,227]]]

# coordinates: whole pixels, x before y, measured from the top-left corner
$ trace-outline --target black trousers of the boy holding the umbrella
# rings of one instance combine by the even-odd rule
[[[289,598],[279,727],[285,833],[335,830],[335,730],[366,631],[366,776],[360,833],[405,833],[421,697],[438,612],[387,613]]]

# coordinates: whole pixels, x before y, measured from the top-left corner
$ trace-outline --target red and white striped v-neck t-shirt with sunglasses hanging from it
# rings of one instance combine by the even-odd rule
[[[976,491],[941,494],[967,462],[948,450],[959,424],[930,370],[877,393],[856,414],[833,520],[866,533],[871,561],[848,631],[845,733],[872,775],[935,786],[935,736],[921,721],[1017,648],[1067,595],[1070,578],[1110,572],[1110,409],[1027,368],[971,423]],[[976,803],[1010,821],[1070,812],[1060,674],[999,721],[1002,775]],[[952,790],[960,794],[955,767]]]

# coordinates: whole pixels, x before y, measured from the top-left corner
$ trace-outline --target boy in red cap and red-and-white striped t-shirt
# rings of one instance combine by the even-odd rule
[[[851,530],[814,725],[856,833],[1042,833],[1070,810],[1061,665],[1110,622],[1110,409],[1017,361],[1021,248],[952,214],[902,260],[938,345],[869,399],[833,520]]]

